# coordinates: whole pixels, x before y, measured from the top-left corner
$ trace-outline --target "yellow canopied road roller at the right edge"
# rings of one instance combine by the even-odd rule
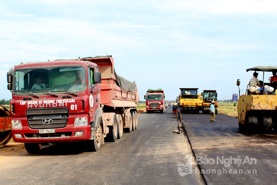
[[[276,83],[264,82],[264,72],[277,71],[277,67],[258,66],[246,70],[262,72],[263,79],[261,87],[252,88],[249,84],[246,93],[239,96],[238,100],[238,122],[241,132],[257,133],[277,131],[277,95]],[[270,79],[269,79],[270,82]],[[237,80],[240,85],[240,80]],[[249,88],[248,88],[249,87]],[[239,93],[240,94],[240,93]]]

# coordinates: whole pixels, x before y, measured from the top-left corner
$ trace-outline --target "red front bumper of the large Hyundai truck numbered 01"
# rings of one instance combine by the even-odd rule
[[[39,130],[31,129],[27,122],[27,117],[13,117],[12,120],[21,120],[22,129],[12,129],[12,136],[15,142],[19,143],[55,143],[86,141],[91,138],[91,126],[74,127],[76,117],[86,117],[87,114],[70,115],[64,128],[55,128],[55,133],[39,134]],[[89,120],[89,118],[88,118]],[[48,129],[48,128],[47,128]],[[50,128],[49,128],[50,129]],[[81,136],[75,136],[76,132],[83,132]],[[20,137],[20,135],[21,137]]]

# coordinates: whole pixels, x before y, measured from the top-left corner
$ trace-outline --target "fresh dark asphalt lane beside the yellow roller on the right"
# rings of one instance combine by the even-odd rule
[[[277,136],[240,134],[238,119],[182,114],[183,125],[207,184],[276,184]]]

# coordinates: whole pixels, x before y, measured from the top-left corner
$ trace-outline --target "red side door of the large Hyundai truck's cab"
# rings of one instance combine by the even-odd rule
[[[94,121],[96,109],[100,106],[100,84],[95,84],[93,79],[94,67],[88,68],[88,85],[89,85],[89,115],[90,122]]]

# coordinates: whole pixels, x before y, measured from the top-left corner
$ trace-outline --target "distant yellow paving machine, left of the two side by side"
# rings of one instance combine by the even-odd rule
[[[202,109],[202,98],[197,94],[198,88],[180,88],[180,109],[182,112],[199,113]]]

